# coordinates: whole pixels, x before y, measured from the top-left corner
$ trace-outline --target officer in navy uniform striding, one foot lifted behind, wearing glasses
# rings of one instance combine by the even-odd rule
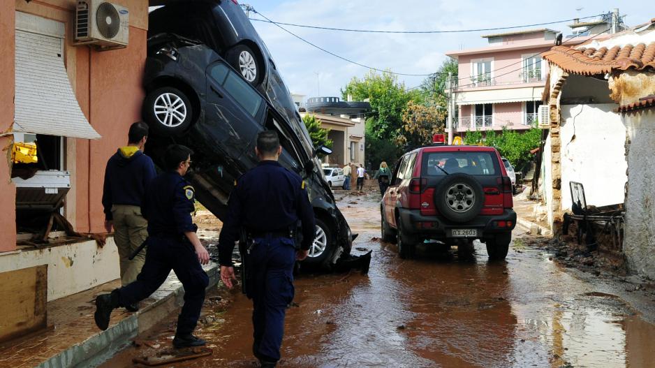
[[[110,294],[96,297],[96,325],[106,330],[112,309],[131,305],[149,297],[166,280],[170,270],[184,286],[184,306],[177,318],[175,348],[205,345],[193,336],[205,302],[209,277],[200,265],[209,263],[209,253],[200,244],[191,221],[194,209],[193,186],[184,179],[191,165],[191,149],[171,145],[164,154],[165,172],[152,179],[141,212],[148,220],[148,251],[136,281]]]

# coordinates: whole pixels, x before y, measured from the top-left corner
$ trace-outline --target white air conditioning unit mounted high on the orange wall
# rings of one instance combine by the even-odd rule
[[[75,10],[75,44],[101,48],[125,47],[129,41],[129,12],[101,0],[80,0]]]

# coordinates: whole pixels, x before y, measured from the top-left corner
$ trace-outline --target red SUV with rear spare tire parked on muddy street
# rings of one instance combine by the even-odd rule
[[[512,182],[493,147],[430,146],[395,165],[381,203],[382,238],[397,241],[401,258],[416,244],[487,244],[492,260],[507,256],[516,225]]]

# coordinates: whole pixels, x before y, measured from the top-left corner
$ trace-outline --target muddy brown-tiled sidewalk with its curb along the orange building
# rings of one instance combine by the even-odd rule
[[[203,268],[209,275],[207,289],[216,286],[220,279],[218,265],[209,263]],[[114,280],[48,302],[47,330],[0,344],[0,368],[94,367],[184,302],[182,284],[171,272],[165,283],[140,303],[138,312],[116,309],[110,327],[101,331],[94,322],[96,295],[119,286],[120,280]]]

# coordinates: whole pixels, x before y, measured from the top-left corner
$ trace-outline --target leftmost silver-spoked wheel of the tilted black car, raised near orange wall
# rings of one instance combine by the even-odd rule
[[[177,88],[154,89],[143,101],[143,118],[155,135],[182,133],[193,121],[191,100]]]

